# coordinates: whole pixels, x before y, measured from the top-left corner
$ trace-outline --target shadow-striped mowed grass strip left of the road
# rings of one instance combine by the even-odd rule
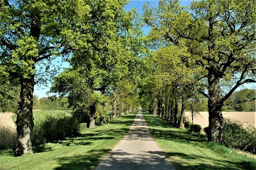
[[[94,129],[82,128],[77,137],[35,146],[35,153],[22,157],[0,151],[0,169],[95,169],[127,134],[136,114],[131,112]]]

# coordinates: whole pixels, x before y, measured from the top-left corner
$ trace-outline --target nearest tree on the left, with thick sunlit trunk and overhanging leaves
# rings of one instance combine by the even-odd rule
[[[80,31],[86,32],[97,17],[89,15],[95,4],[100,1],[0,1],[0,65],[20,84],[16,156],[32,153],[33,91],[35,80],[40,80],[36,65],[50,64],[56,56],[72,54],[81,40],[92,40],[90,33],[80,36]]]

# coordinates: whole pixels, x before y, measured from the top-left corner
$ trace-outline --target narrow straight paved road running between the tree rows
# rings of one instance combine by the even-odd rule
[[[101,169],[175,168],[152,139],[143,115],[138,112],[127,135],[97,167]]]

